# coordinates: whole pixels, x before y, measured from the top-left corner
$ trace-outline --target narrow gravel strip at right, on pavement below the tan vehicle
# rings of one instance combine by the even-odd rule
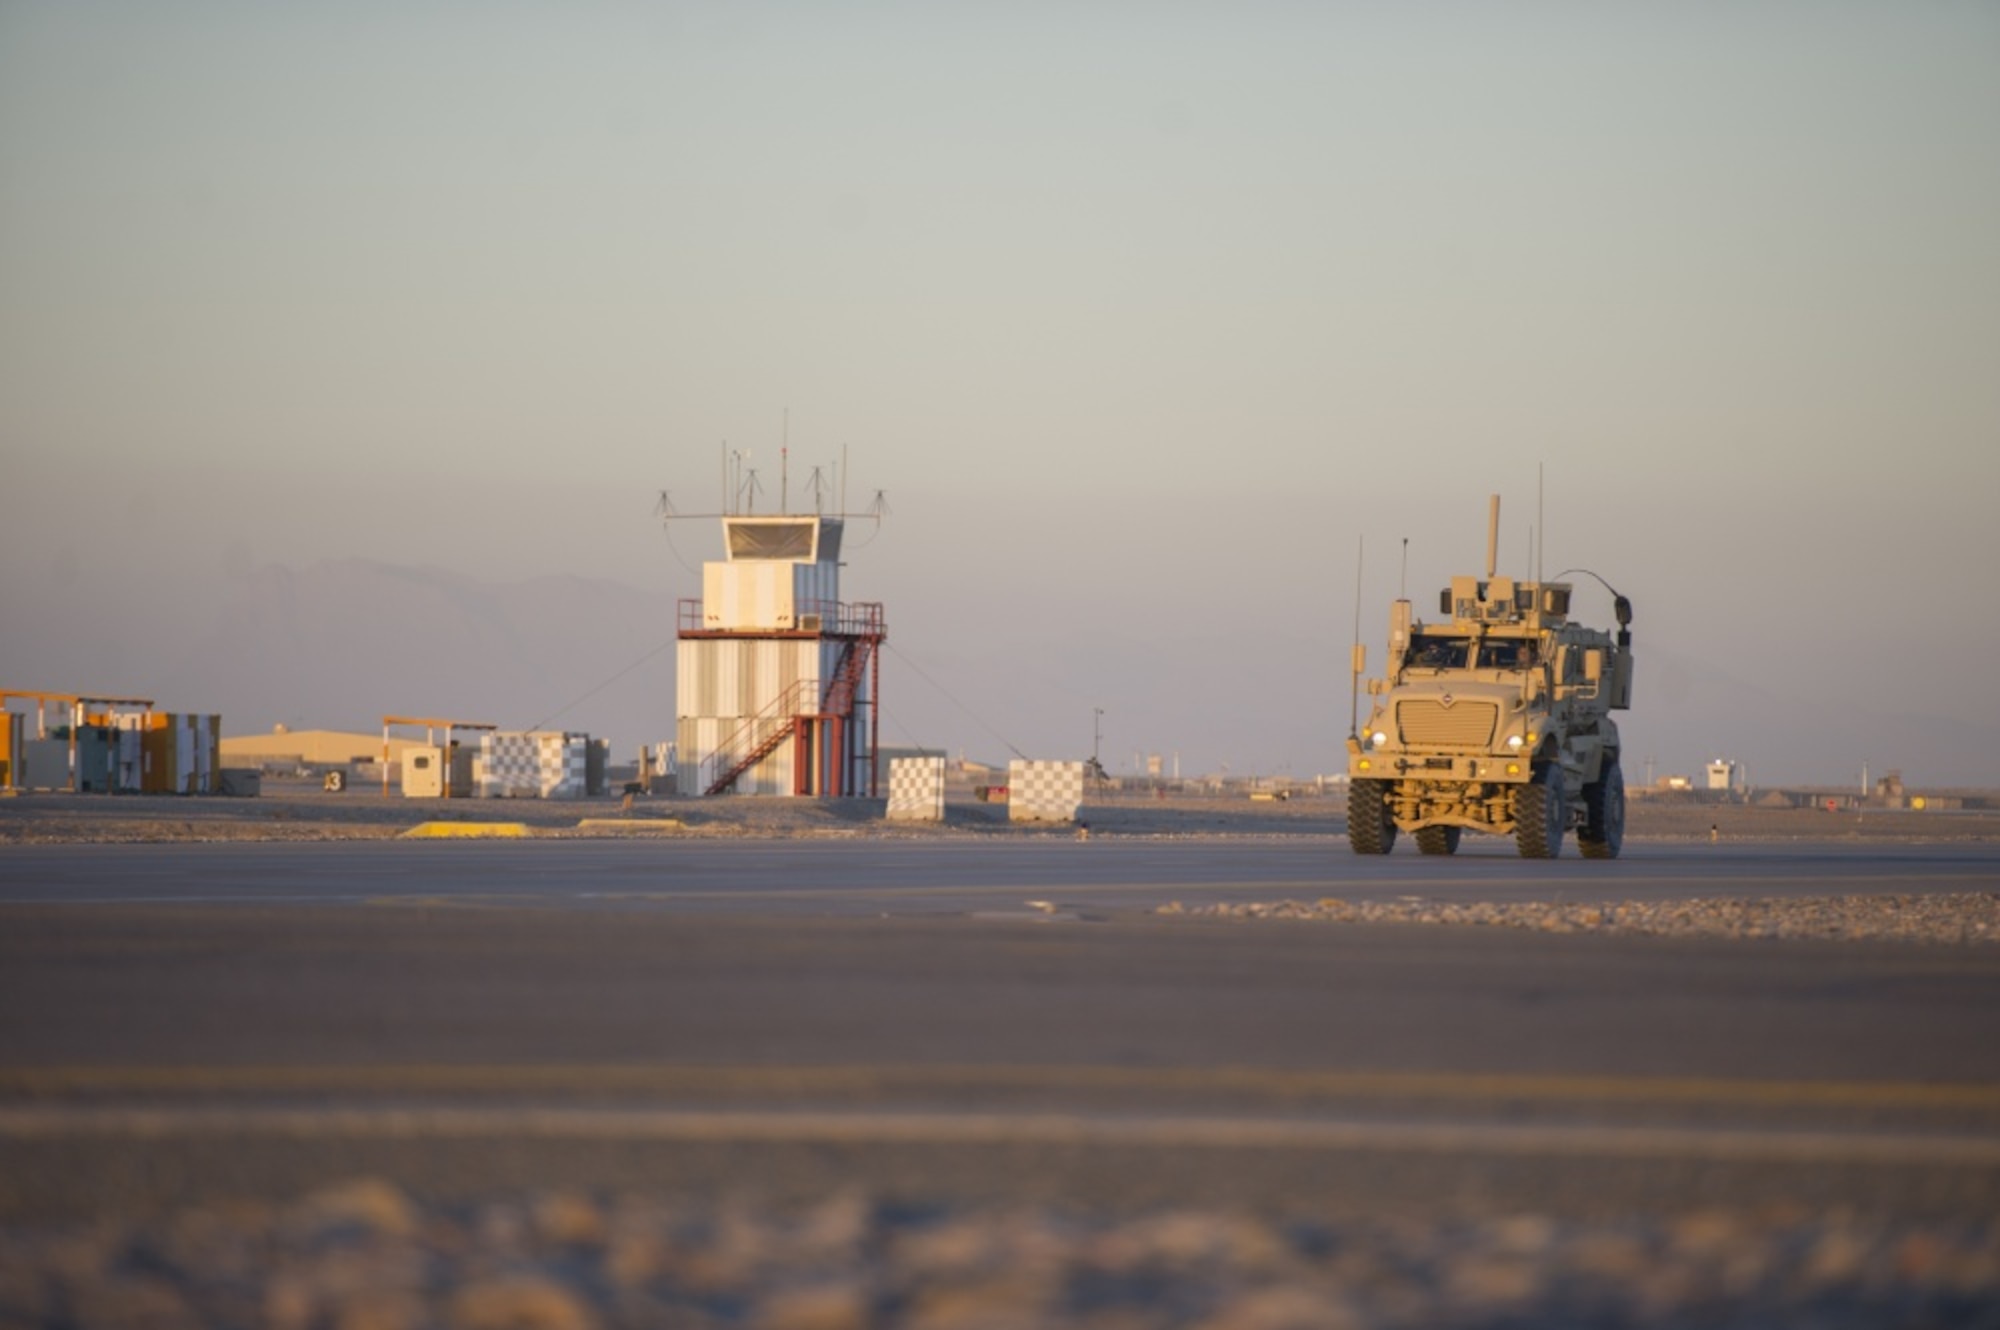
[[[1158,914],[1292,918],[1334,924],[1488,924],[1540,932],[1636,932],[1668,938],[1824,938],[2000,942],[2000,892],[1818,896],[1804,900],[1628,900],[1624,904],[1450,904],[1436,900],[1166,904]]]

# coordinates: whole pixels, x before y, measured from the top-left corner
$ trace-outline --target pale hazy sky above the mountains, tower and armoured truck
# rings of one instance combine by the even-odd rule
[[[0,686],[220,688],[270,568],[670,604],[780,448],[890,744],[1342,770],[1498,492],[1634,756],[2000,786],[2000,6],[0,0]]]

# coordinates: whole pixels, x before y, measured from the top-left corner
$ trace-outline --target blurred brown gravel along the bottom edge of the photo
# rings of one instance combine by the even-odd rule
[[[0,1230],[0,1326],[2000,1326],[2000,1218],[1268,1220],[520,1194]]]

